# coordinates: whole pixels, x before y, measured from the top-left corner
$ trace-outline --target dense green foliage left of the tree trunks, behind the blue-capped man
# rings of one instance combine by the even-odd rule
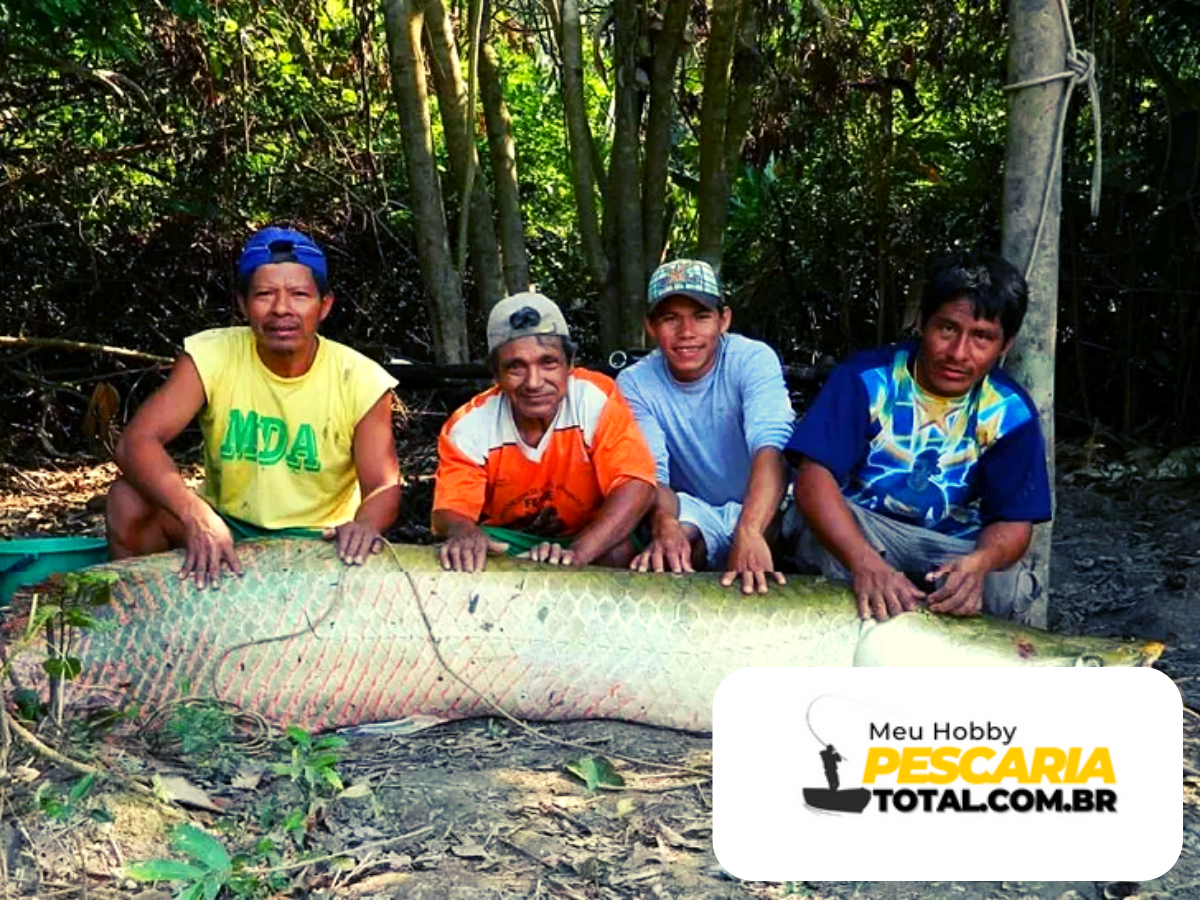
[[[368,312],[410,281],[388,259],[408,235],[402,185],[391,198],[383,180],[400,170],[386,73],[344,2],[0,8],[0,103],[14,125],[0,252],[18,274],[6,319],[95,337],[91,317],[72,313],[103,308],[127,328],[114,340],[169,353],[184,332],[164,334],[164,318],[228,316],[232,253],[265,221],[356,258],[340,286]],[[358,294],[359,278],[373,290]],[[372,340],[373,320],[354,336]]]

